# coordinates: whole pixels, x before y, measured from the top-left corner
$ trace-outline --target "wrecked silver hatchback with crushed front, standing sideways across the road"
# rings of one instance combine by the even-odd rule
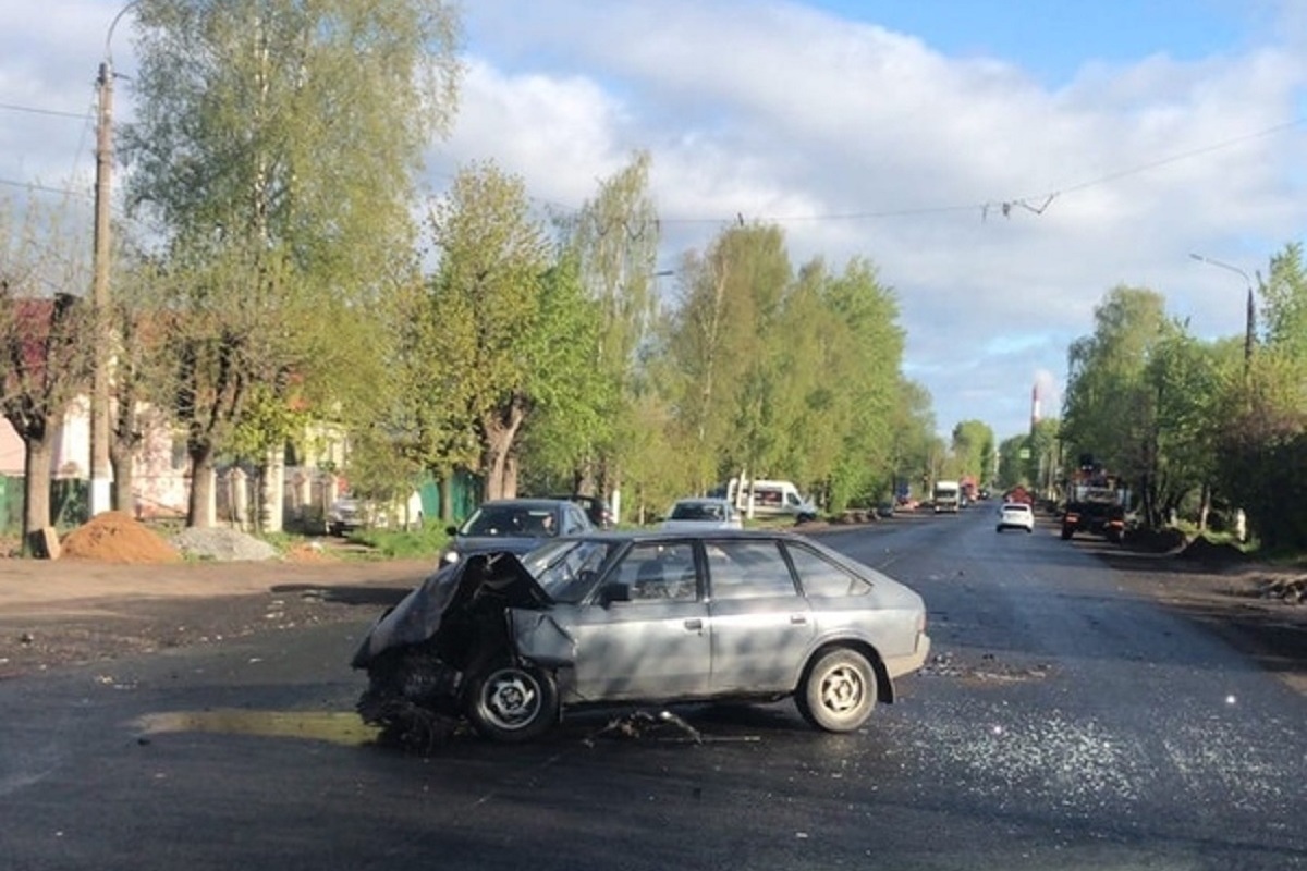
[[[353,666],[362,718],[410,746],[464,720],[520,742],[582,705],[784,697],[843,733],[929,646],[920,595],[805,537],[595,533],[442,568]]]

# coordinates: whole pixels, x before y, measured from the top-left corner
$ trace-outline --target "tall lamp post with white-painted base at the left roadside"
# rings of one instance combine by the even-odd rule
[[[141,0],[132,0],[119,9],[105,34],[105,60],[99,64],[95,85],[99,89],[99,112],[95,124],[95,229],[91,279],[91,304],[95,311],[95,362],[90,389],[90,513],[112,508],[108,460],[108,370],[112,350],[108,345],[108,260],[110,260],[110,178],[114,168],[114,61],[110,43],[114,29],[124,14]]]

